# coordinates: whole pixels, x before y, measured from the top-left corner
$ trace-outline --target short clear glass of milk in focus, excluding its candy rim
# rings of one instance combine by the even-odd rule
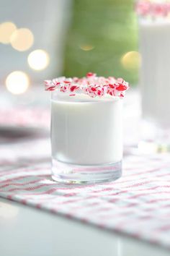
[[[64,183],[112,181],[122,174],[122,99],[51,98],[52,177]]]

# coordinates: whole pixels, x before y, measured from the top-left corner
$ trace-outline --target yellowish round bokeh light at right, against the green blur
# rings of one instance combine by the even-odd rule
[[[122,56],[121,63],[125,69],[138,69],[141,63],[141,56],[138,51],[128,51]]]

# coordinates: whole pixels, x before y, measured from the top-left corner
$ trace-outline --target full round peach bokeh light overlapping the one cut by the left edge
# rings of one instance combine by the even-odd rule
[[[17,51],[27,51],[34,43],[34,35],[28,28],[19,28],[12,33],[10,42]]]

